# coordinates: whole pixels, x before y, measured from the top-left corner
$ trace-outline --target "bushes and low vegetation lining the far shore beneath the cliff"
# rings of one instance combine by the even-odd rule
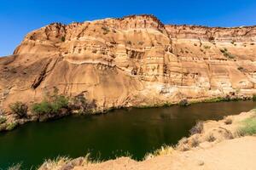
[[[18,121],[7,122],[5,116],[0,116],[0,133],[1,131],[11,131],[21,124],[26,122],[46,122],[49,120],[55,120],[63,116],[72,115],[73,113],[78,115],[98,115],[104,114],[109,111],[118,109],[129,108],[158,108],[158,107],[170,107],[172,105],[188,106],[197,103],[216,103],[216,102],[229,102],[239,100],[256,101],[256,94],[252,97],[242,97],[227,95],[225,97],[217,97],[212,99],[203,99],[196,101],[189,101],[189,99],[182,99],[179,103],[164,103],[155,105],[139,105],[132,107],[116,107],[108,108],[104,111],[96,111],[96,100],[89,101],[84,97],[84,94],[79,94],[73,98],[66,97],[65,95],[58,94],[57,88],[54,88],[52,94],[46,94],[44,100],[40,103],[34,103],[31,107],[31,115],[28,115],[28,106],[25,103],[17,101],[9,105],[9,108]],[[19,122],[19,119],[23,121]]]

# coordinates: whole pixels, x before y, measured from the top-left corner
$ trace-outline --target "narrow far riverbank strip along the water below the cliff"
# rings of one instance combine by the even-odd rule
[[[223,101],[239,101],[239,100],[250,100],[256,99],[256,96],[222,96],[217,98],[206,98],[206,99],[182,99],[179,102],[173,103],[163,103],[163,104],[154,104],[154,105],[134,105],[134,106],[121,106],[121,107],[111,107],[111,108],[97,108],[91,107],[90,111],[83,111],[80,112],[77,108],[70,109],[70,108],[60,108],[55,114],[34,114],[31,111],[31,108],[27,111],[26,116],[20,117],[12,113],[11,111],[7,111],[5,114],[0,115],[0,133],[3,131],[11,131],[14,130],[16,127],[23,125],[27,122],[46,122],[54,119],[59,119],[64,116],[70,115],[99,115],[107,113],[108,111],[113,111],[116,109],[122,108],[156,108],[156,107],[170,107],[172,105],[181,105],[181,106],[188,106],[197,103],[216,103],[216,102],[223,102]],[[81,105],[73,104],[76,107],[81,107]],[[91,104],[90,104],[91,105]],[[73,107],[73,106],[72,106]]]

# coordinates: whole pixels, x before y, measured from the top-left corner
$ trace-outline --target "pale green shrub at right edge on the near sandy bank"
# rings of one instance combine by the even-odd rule
[[[245,121],[241,122],[242,126],[238,128],[239,136],[253,135],[256,134],[256,117],[247,118]]]

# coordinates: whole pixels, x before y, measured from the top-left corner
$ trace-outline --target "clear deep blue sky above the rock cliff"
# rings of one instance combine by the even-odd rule
[[[52,22],[154,14],[165,24],[256,25],[255,0],[0,0],[0,56],[12,54],[29,31]]]

